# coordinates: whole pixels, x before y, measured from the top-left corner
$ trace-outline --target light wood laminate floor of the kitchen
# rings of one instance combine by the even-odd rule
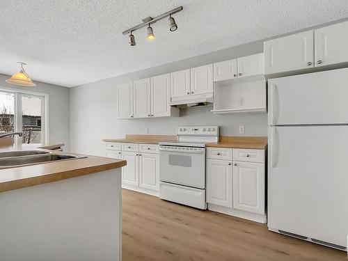
[[[122,260],[347,260],[347,253],[265,224],[122,191]]]

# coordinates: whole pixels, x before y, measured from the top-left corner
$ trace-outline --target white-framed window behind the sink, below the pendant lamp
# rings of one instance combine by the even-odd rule
[[[48,95],[0,90],[0,132],[23,132],[16,143],[47,143]]]

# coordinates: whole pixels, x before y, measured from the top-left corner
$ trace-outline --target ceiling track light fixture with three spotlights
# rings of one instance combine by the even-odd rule
[[[169,31],[175,31],[177,29],[177,24],[175,23],[175,19],[172,17],[173,14],[182,11],[182,6],[175,8],[171,11],[168,11],[167,13],[164,13],[162,15],[159,15],[155,18],[152,17],[147,17],[145,19],[143,19],[143,23],[142,24],[138,24],[137,26],[134,26],[126,31],[123,31],[122,34],[123,35],[127,35],[129,34],[129,45],[130,46],[135,46],[136,42],[135,42],[135,38],[133,35],[133,31],[136,31],[138,29],[141,29],[145,26],[148,26],[147,28],[147,33],[148,35],[146,36],[148,38],[148,40],[153,40],[155,39],[155,34],[153,33],[153,29],[151,27],[151,24],[155,24],[155,22],[164,19],[165,17],[169,17],[168,19],[168,23],[169,23]]]

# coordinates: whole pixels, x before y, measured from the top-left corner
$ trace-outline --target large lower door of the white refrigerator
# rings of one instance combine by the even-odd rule
[[[269,127],[268,226],[347,247],[348,127]]]

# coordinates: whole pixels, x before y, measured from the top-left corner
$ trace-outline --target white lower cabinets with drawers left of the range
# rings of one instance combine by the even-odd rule
[[[127,160],[122,167],[122,187],[158,196],[159,191],[159,155],[157,144],[106,143],[106,157]]]

